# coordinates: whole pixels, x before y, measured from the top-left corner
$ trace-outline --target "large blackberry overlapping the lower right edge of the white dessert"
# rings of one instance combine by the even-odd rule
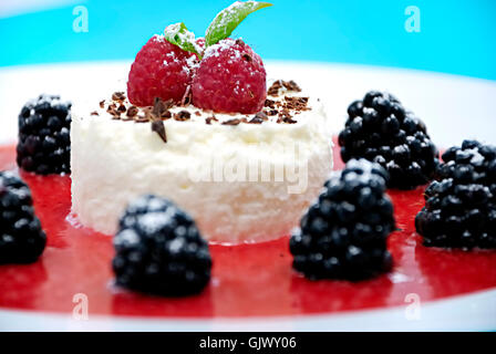
[[[360,280],[392,267],[386,249],[395,221],[384,194],[388,171],[350,160],[324,185],[290,239],[293,268],[310,279]]]

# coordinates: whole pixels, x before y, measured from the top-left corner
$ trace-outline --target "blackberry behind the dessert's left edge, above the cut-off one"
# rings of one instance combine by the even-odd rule
[[[19,114],[19,167],[39,175],[70,173],[71,103],[42,94]]]

